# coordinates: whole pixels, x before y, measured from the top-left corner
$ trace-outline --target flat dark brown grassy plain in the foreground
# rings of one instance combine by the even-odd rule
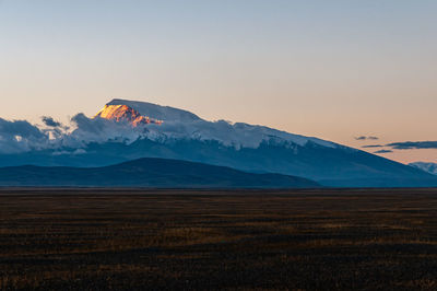
[[[15,289],[437,290],[437,189],[1,189]]]

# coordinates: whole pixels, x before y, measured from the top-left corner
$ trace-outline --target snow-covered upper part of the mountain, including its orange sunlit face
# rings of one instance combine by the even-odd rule
[[[139,138],[155,141],[175,139],[214,140],[236,149],[258,148],[263,141],[292,143],[292,146],[298,144],[300,147],[308,142],[328,148],[339,147],[339,144],[330,141],[293,135],[264,126],[244,123],[231,124],[225,120],[208,121],[187,110],[146,102],[113,100],[96,117],[117,123],[127,121],[132,127],[141,125],[144,130],[139,133]],[[147,123],[144,120],[160,121]]]

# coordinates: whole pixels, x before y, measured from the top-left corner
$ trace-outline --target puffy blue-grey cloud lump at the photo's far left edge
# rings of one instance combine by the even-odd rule
[[[48,143],[48,135],[28,121],[0,118],[0,153],[38,150]]]

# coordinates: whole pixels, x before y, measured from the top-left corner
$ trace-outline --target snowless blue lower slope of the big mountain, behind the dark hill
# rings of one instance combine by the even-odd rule
[[[138,140],[91,143],[83,154],[52,155],[50,152],[9,156],[10,163],[46,166],[106,166],[140,158],[164,158],[229,166],[251,173],[282,173],[319,181],[336,187],[429,187],[437,177],[377,155],[317,144],[290,149],[263,143],[257,149],[236,150],[214,141],[178,140],[161,143]],[[1,159],[8,162],[8,159]]]

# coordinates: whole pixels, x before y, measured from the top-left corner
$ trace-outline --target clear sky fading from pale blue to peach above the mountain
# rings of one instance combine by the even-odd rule
[[[66,121],[117,97],[355,148],[436,141],[436,15],[435,0],[0,0],[0,117]],[[437,162],[363,150],[381,149]]]

